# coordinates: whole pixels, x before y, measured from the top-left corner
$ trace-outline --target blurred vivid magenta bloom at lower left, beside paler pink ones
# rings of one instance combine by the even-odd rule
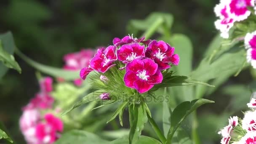
[[[57,132],[63,131],[63,123],[52,114],[45,115],[45,123],[39,123],[36,127],[37,139],[44,144],[52,144],[59,137]]]

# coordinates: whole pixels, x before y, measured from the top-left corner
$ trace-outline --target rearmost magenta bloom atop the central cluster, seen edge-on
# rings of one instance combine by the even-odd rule
[[[130,44],[130,43],[144,43],[145,45],[148,45],[150,40],[144,41],[145,37],[141,37],[139,39],[133,38],[133,35],[128,35],[123,37],[122,39],[115,37],[113,40],[113,44],[115,46],[120,46],[124,44]]]

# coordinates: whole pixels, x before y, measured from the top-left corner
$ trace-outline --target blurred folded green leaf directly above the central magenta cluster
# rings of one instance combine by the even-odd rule
[[[162,19],[163,23],[160,27],[157,27],[157,32],[165,33],[166,30],[170,30],[173,24],[173,16],[170,13],[158,13],[154,12],[147,16],[144,20],[131,20],[128,24],[128,32],[137,34],[138,31],[145,31],[152,26],[157,19]]]

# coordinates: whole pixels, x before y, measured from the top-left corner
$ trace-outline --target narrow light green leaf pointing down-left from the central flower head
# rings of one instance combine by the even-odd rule
[[[88,95],[84,96],[82,100],[78,101],[76,104],[74,104],[72,107],[70,107],[69,109],[67,109],[65,112],[63,112],[61,114],[61,116],[66,115],[68,112],[72,111],[73,109],[80,107],[82,104],[86,104],[88,102],[91,101],[95,101],[97,99],[99,99],[99,95],[101,93],[104,93],[105,91],[103,90],[98,90],[98,91],[94,91],[92,93],[89,93]]]

